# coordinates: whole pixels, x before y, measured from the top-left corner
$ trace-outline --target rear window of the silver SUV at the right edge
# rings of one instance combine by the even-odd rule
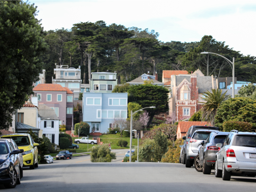
[[[256,135],[236,135],[232,145],[256,147]]]

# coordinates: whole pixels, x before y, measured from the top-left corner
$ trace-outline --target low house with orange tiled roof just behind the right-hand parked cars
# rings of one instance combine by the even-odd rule
[[[186,136],[189,127],[191,127],[192,125],[204,126],[207,124],[207,121],[179,121],[177,128],[177,139]]]

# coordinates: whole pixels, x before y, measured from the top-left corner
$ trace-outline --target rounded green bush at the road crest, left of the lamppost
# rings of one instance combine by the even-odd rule
[[[110,152],[108,145],[99,145],[91,150],[91,162],[111,162],[116,153]]]

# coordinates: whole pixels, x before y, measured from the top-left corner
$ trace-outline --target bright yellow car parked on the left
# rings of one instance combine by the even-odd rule
[[[19,149],[23,149],[23,167],[29,167],[29,169],[35,169],[38,167],[38,143],[35,143],[30,134],[28,133],[16,133],[2,135],[3,139],[12,139],[15,141]]]

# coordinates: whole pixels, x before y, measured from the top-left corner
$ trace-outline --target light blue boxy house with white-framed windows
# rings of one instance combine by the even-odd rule
[[[127,102],[128,93],[84,92],[83,121],[90,125],[90,133],[106,133],[114,119],[126,119]]]

